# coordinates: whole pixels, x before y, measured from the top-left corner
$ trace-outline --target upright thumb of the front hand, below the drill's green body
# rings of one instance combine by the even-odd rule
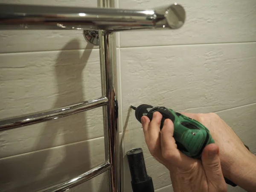
[[[209,144],[202,153],[202,164],[208,182],[217,187],[225,184],[221,171],[221,160],[219,157],[219,148],[215,143]]]

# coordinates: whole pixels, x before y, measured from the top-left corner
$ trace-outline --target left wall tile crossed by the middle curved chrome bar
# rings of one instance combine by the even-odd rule
[[[97,49],[0,54],[0,60],[1,119],[102,95]],[[102,108],[0,134],[0,157],[101,137]]]

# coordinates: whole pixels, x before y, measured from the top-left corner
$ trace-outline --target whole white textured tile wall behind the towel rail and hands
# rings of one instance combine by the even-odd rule
[[[0,3],[96,7],[97,1],[0,0]],[[117,7],[150,9],[166,0],[116,0]],[[117,35],[117,81],[123,145],[122,189],[131,192],[125,152],[142,147],[157,192],[172,192],[169,173],[152,158],[129,105],[216,112],[256,153],[256,1],[177,2],[187,20],[178,30]],[[120,40],[120,41],[119,41]],[[0,31],[1,118],[47,110],[101,95],[99,50],[82,31]],[[174,46],[175,45],[175,46]],[[85,50],[84,50],[85,49]],[[102,109],[0,132],[0,191],[27,192],[102,163]],[[72,163],[73,162],[73,163]],[[106,192],[99,175],[73,192]],[[244,192],[229,187],[229,192]]]

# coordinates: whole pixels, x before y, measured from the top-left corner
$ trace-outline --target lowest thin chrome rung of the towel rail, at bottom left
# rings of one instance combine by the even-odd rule
[[[75,177],[71,180],[55,185],[53,187],[48,187],[47,189],[41,189],[38,192],[64,192],[74,186],[84,183],[85,181],[93,177],[96,177],[97,175],[107,171],[108,169],[111,169],[111,164],[108,161],[105,161],[101,165],[90,169],[89,171],[85,172],[82,175],[79,175],[78,177]]]

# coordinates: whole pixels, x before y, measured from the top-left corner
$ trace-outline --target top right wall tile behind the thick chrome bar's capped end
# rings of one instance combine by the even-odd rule
[[[120,0],[122,9],[152,9],[176,1]],[[131,31],[120,33],[121,47],[176,44],[215,44],[256,41],[256,1],[183,0],[186,23],[178,30]]]

